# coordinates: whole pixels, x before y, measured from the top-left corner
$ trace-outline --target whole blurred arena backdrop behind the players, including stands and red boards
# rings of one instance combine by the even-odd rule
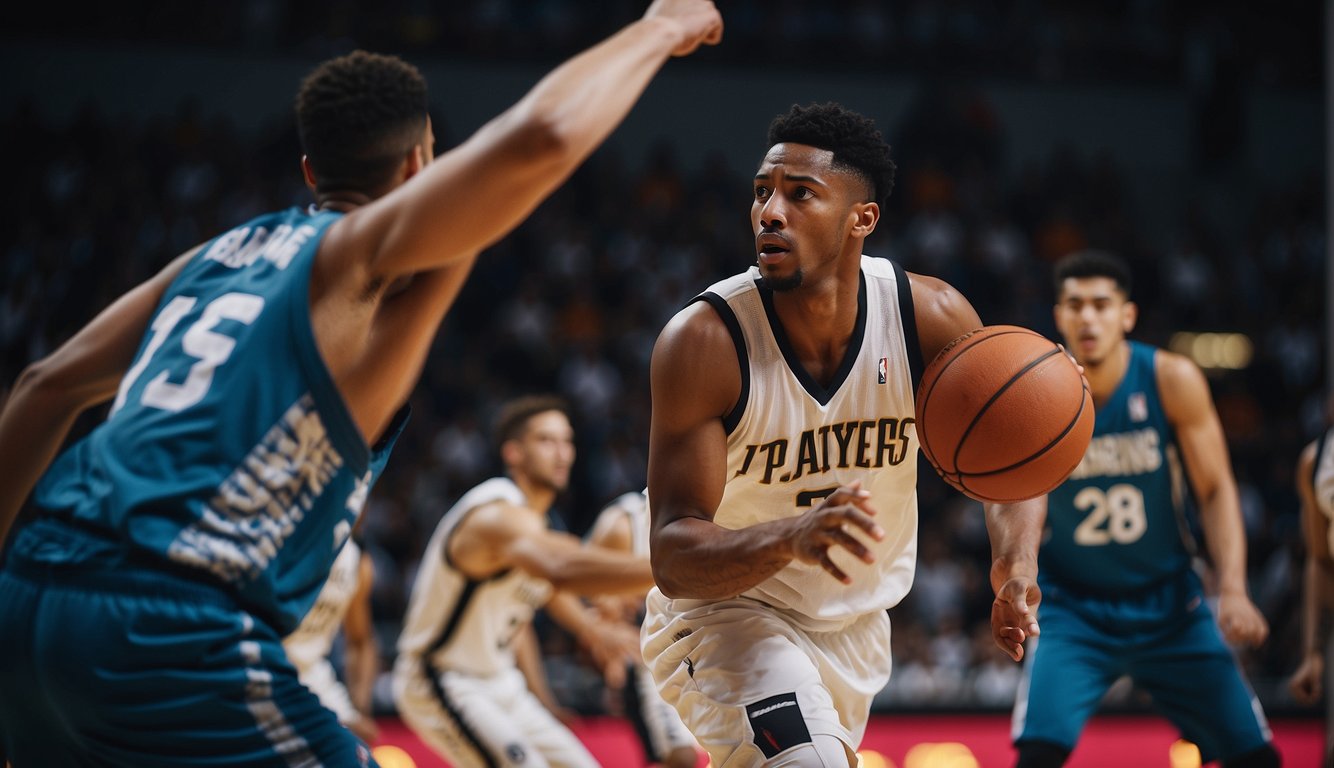
[[[583,533],[644,484],[648,355],[694,292],[754,260],[750,176],[768,120],[836,100],[872,116],[898,183],[872,255],[939,276],[987,324],[1055,337],[1050,264],[1135,269],[1135,336],[1207,373],[1241,485],[1251,595],[1238,649],[1289,765],[1317,765],[1323,704],[1287,692],[1303,556],[1293,469],[1325,424],[1325,3],[723,0],[724,41],[672,61],[539,212],[484,253],[438,339],[414,420],[367,509],[387,768],[439,765],[396,720],[387,671],[416,560],[454,500],[499,472],[507,397],[576,408],[558,503]],[[0,29],[0,385],[175,255],[305,204],[292,95],[319,60],[398,53],[431,83],[438,148],[476,129],[647,0],[139,0],[28,5]],[[81,421],[87,428],[100,413]],[[891,611],[895,672],[867,768],[1009,765],[1018,667],[991,644],[980,507],[922,464],[916,581]],[[607,765],[643,759],[616,699],[539,620],[547,673]],[[1118,685],[1073,767],[1198,765]]]

